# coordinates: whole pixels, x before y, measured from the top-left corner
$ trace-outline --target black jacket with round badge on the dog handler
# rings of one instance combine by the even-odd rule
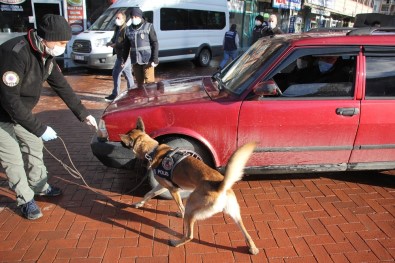
[[[47,83],[81,121],[89,115],[67,83],[55,58],[44,55],[36,32],[8,40],[0,46],[0,121],[14,122],[40,137],[46,130],[32,113],[43,83]]]

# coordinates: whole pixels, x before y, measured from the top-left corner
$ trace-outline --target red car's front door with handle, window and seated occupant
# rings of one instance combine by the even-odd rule
[[[263,78],[263,82],[278,84],[283,94],[249,96],[242,104],[238,143],[258,142],[249,166],[260,167],[259,173],[346,169],[360,118],[360,100],[355,95],[358,52],[358,47],[296,49]],[[287,74],[298,58],[330,55],[348,62],[348,79],[337,83],[289,83],[292,78]],[[317,67],[314,63],[310,67]]]

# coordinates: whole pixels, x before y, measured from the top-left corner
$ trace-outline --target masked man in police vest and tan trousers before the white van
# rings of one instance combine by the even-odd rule
[[[132,8],[130,12],[132,24],[126,29],[126,39],[123,51],[123,65],[130,55],[137,87],[144,83],[155,82],[154,68],[159,64],[159,45],[153,25],[143,18],[143,11]]]

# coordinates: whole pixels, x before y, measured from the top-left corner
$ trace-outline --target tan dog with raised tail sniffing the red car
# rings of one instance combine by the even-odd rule
[[[166,158],[166,154],[173,150],[166,144],[159,144],[146,134],[140,117],[135,129],[120,136],[125,146],[131,148],[138,159],[148,159],[149,169],[160,165]],[[203,220],[223,211],[233,218],[243,232],[249,252],[256,255],[259,250],[244,227],[240,206],[231,189],[234,183],[241,180],[244,166],[254,151],[255,145],[255,143],[247,143],[233,153],[226,167],[225,176],[195,157],[187,156],[174,166],[171,180],[155,175],[159,184],[149,191],[142,201],[132,205],[136,208],[142,207],[151,198],[169,190],[184,218],[185,229],[181,239],[169,241],[169,244],[174,247],[184,245],[193,239],[193,226],[196,220]],[[185,207],[179,188],[193,190]]]

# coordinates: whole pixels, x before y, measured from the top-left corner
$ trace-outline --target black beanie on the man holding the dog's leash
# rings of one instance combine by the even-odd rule
[[[69,41],[71,27],[63,16],[46,14],[38,25],[37,35],[47,41]]]

